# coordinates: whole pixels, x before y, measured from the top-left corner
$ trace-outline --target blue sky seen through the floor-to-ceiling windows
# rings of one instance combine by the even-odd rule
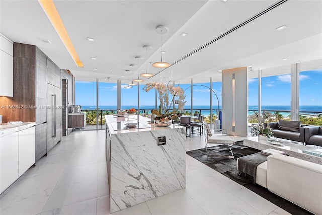
[[[300,73],[300,105],[322,105],[322,69],[305,71]],[[198,83],[210,86],[209,83]],[[137,106],[137,86],[125,89],[122,84],[122,105]],[[154,105],[155,91],[143,92],[144,85],[140,85],[140,106]],[[186,89],[190,84],[180,84]],[[291,104],[291,75],[278,75],[262,78],[262,105],[290,105]],[[216,92],[219,105],[221,105],[221,82],[212,85]],[[85,106],[96,105],[96,83],[76,81],[76,104]],[[249,79],[249,105],[257,105],[258,79]],[[186,105],[190,104],[191,89],[185,91],[188,99]],[[193,105],[210,105],[210,90],[203,86],[193,87]],[[117,85],[114,83],[99,83],[99,105],[115,106],[117,104]],[[213,94],[213,105],[217,100]]]

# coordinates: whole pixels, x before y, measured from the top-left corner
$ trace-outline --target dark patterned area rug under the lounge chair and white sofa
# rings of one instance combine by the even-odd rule
[[[304,210],[303,208],[298,207],[292,202],[289,202],[275,195],[274,193],[271,193],[266,188],[257,184],[253,184],[249,180],[238,176],[236,160],[234,160],[233,158],[218,157],[218,156],[231,156],[230,151],[225,150],[226,148],[227,148],[226,144],[214,146],[214,147],[208,147],[208,157],[206,154],[206,150],[204,148],[198,149],[198,150],[191,150],[186,153],[191,157],[197,159],[198,161],[204,163],[208,167],[216,170],[217,172],[220,172],[226,177],[243,185],[244,187],[262,196],[266,200],[272,202],[276,206],[279,206],[280,208],[284,209],[285,211],[291,214],[312,214],[307,210]],[[244,146],[243,141],[237,142],[237,144],[233,145],[231,149],[232,149],[232,152],[234,153],[235,159],[259,152],[259,150],[257,149]]]

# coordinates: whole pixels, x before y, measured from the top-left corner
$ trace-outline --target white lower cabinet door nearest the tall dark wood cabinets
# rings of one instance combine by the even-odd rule
[[[34,165],[36,158],[36,127],[19,131],[19,177]]]

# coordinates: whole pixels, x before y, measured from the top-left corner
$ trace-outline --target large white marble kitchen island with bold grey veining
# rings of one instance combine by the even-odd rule
[[[185,128],[149,120],[139,116],[128,129],[126,117],[105,115],[111,213],[186,187]],[[158,137],[166,144],[158,145]]]

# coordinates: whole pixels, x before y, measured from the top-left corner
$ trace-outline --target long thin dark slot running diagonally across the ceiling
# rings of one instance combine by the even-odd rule
[[[240,23],[239,25],[237,25],[237,26],[233,27],[232,29],[228,30],[227,32],[225,32],[225,33],[221,34],[221,35],[220,35],[220,36],[218,36],[217,38],[215,38],[215,39],[211,40],[210,42],[208,42],[208,43],[206,43],[206,44],[204,44],[204,45],[200,46],[199,48],[195,49],[194,51],[192,51],[192,52],[188,53],[187,55],[183,56],[182,58],[180,58],[180,59],[179,59],[179,60],[177,60],[176,62],[172,63],[169,67],[164,68],[164,69],[162,69],[162,70],[158,71],[158,73],[154,74],[154,76],[156,76],[156,75],[158,75],[158,74],[162,73],[162,72],[163,72],[163,71],[165,71],[166,69],[168,69],[168,68],[170,68],[170,67],[174,66],[175,64],[177,64],[177,63],[181,62],[182,60],[186,59],[187,57],[189,57],[189,56],[193,55],[194,53],[196,53],[196,52],[200,51],[201,49],[203,49],[203,48],[207,47],[208,45],[211,45],[212,43],[216,42],[217,40],[219,40],[219,39],[223,38],[224,36],[226,36],[226,35],[228,35],[228,34],[230,34],[230,33],[232,33],[233,31],[237,30],[238,28],[243,27],[243,26],[244,26],[244,25],[246,25],[247,23],[249,23],[249,22],[251,22],[251,21],[255,20],[256,18],[258,18],[258,17],[260,17],[260,16],[264,15],[265,13],[267,13],[267,12],[269,12],[269,11],[273,10],[274,8],[276,8],[276,7],[280,6],[281,4],[283,4],[283,3],[287,2],[287,1],[288,1],[288,0],[280,0],[280,1],[276,2],[276,3],[274,3],[273,5],[269,6],[269,7],[268,7],[268,8],[266,8],[266,9],[264,9],[263,11],[261,11],[261,12],[257,13],[256,15],[252,16],[251,18],[247,19],[247,20],[246,20],[246,21],[244,21],[243,23]],[[150,78],[151,78],[151,77],[150,77]]]

